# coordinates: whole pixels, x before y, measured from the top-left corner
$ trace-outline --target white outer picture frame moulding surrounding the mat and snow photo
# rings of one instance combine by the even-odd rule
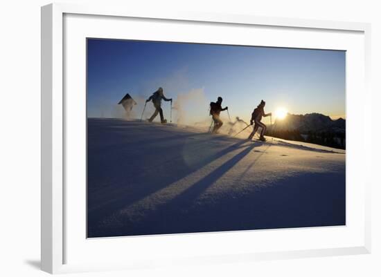
[[[356,88],[362,88],[364,91],[361,93],[363,99],[360,104],[364,110],[370,110],[371,108],[371,93],[369,91],[369,61],[370,61],[370,33],[371,26],[367,23],[351,23],[351,22],[335,22],[335,21],[318,21],[318,20],[304,20],[304,19],[285,19],[285,18],[270,18],[270,17],[254,17],[250,15],[218,15],[218,14],[202,14],[192,12],[168,12],[167,14],[156,15],[152,12],[142,10],[129,10],[128,8],[116,8],[112,6],[78,6],[76,4],[50,4],[42,7],[42,270],[49,273],[65,273],[73,271],[92,271],[92,270],[112,270],[112,269],[131,269],[131,268],[145,268],[156,267],[169,264],[170,262],[181,264],[200,264],[205,262],[229,262],[229,261],[251,261],[251,260],[267,260],[267,259],[279,259],[279,258],[301,258],[311,256],[333,256],[333,255],[349,255],[349,254],[367,254],[371,251],[371,227],[370,227],[370,186],[371,177],[366,174],[366,171],[370,170],[371,166],[371,145],[366,143],[364,137],[360,137],[358,145],[351,148],[351,132],[355,131],[353,126],[361,124],[364,128],[371,130],[371,121],[364,120],[364,117],[359,116],[357,118],[351,117],[352,102],[356,102],[359,95],[355,93],[347,94],[347,113],[350,120],[348,120],[348,153],[351,151],[353,155],[360,157],[363,165],[358,168],[357,173],[354,175],[355,181],[359,182],[359,187],[363,190],[361,193],[352,193],[350,196],[353,198],[359,198],[358,204],[362,208],[360,211],[360,225],[356,225],[355,242],[351,243],[351,236],[348,236],[346,242],[342,244],[324,245],[322,247],[314,247],[308,249],[289,249],[284,246],[282,250],[269,250],[266,247],[262,250],[253,249],[233,249],[229,254],[229,247],[231,244],[227,243],[227,249],[221,254],[206,253],[203,255],[197,255],[197,249],[193,249],[192,254],[179,255],[178,258],[168,255],[164,255],[164,258],[159,259],[155,256],[151,256],[148,259],[143,259],[139,255],[132,256],[133,260],[124,262],[123,260],[115,260],[114,262],[105,261],[102,262],[102,258],[96,262],[90,260],[79,260],[76,262],[67,262],[67,250],[66,248],[73,247],[68,245],[69,242],[73,242],[66,238],[67,236],[67,223],[68,218],[65,216],[65,200],[67,200],[68,193],[65,189],[65,182],[67,182],[67,176],[65,175],[64,166],[67,159],[68,148],[65,147],[65,140],[67,128],[64,124],[66,117],[68,116],[68,105],[70,101],[67,101],[64,95],[64,51],[67,44],[65,41],[68,35],[65,32],[70,32],[70,28],[64,29],[64,17],[67,15],[87,15],[87,16],[100,16],[109,17],[112,19],[146,19],[150,23],[155,24],[155,20],[176,22],[188,22],[198,24],[213,23],[214,25],[224,26],[265,26],[266,28],[291,28],[297,30],[317,30],[323,32],[355,32],[360,37],[360,48],[364,50],[363,57],[357,57],[362,59],[364,66],[360,66],[360,73],[364,73],[364,78],[359,79],[358,84],[353,86]],[[81,19],[82,20],[82,19]],[[87,20],[87,19],[84,19]],[[114,24],[110,21],[110,24]],[[105,25],[107,26],[107,25]],[[192,28],[190,26],[190,28]],[[69,34],[70,35],[70,34]],[[192,39],[190,39],[192,40]],[[362,43],[364,43],[362,45]],[[265,44],[267,45],[267,44]],[[308,48],[308,44],[305,44]],[[296,46],[295,46],[296,47]],[[349,46],[348,46],[349,47]],[[317,46],[319,48],[319,46]],[[341,48],[346,50],[346,48]],[[351,63],[350,63],[351,64]],[[351,68],[349,68],[351,70]],[[349,73],[348,73],[349,74]],[[360,74],[361,75],[361,74]],[[355,75],[351,75],[353,78],[357,78]],[[362,77],[359,77],[362,78]],[[358,86],[357,86],[358,85]],[[349,90],[352,91],[352,90]],[[85,91],[84,91],[85,93]],[[73,112],[74,113],[74,112]],[[351,131],[350,131],[351,130]],[[351,168],[355,166],[355,161],[351,162]],[[348,170],[348,169],[347,169]],[[361,177],[361,176],[364,177]],[[348,180],[348,175],[347,175]],[[360,180],[360,181],[359,181]],[[85,185],[85,184],[83,184]],[[357,195],[355,195],[357,194]],[[347,194],[348,196],[348,194]],[[85,199],[83,199],[85,202]],[[351,204],[351,203],[350,203]],[[357,206],[356,206],[357,207]],[[348,206],[347,206],[348,208]],[[348,209],[347,209],[348,210]],[[85,225],[86,223],[83,222]],[[348,227],[348,226],[347,226]],[[346,227],[344,227],[346,228]],[[351,226],[348,227],[350,229]],[[359,231],[360,230],[360,231]],[[298,230],[285,230],[284,232],[295,233],[303,236],[303,233],[310,233],[309,236],[314,236],[314,233],[322,233],[321,236],[330,236],[329,233],[337,231],[339,236],[341,230],[334,229],[298,229]],[[171,236],[143,236],[130,240],[130,245],[161,245],[163,243],[184,243],[184,245],[192,245],[197,243],[206,243],[206,238],[213,241],[215,245],[220,243],[221,240],[231,240],[234,242],[238,237],[245,237],[247,239],[252,236],[262,236],[263,233],[274,231],[261,231],[261,235],[252,232],[231,232],[220,236],[215,234],[215,237],[207,236],[205,234],[195,234],[192,236],[185,235],[171,235]],[[276,232],[276,231],[275,231]],[[280,233],[280,231],[278,232]],[[324,233],[327,233],[324,235]],[[207,237],[206,237],[207,236]],[[278,236],[278,235],[276,235]],[[283,233],[282,236],[288,236]],[[291,235],[290,235],[291,236]],[[319,235],[320,236],[320,235]],[[335,235],[336,236],[336,235]],[[290,237],[291,238],[291,237]],[[85,238],[83,238],[85,240]],[[123,238],[121,238],[123,240]],[[176,241],[177,240],[177,241]],[[186,240],[186,241],[182,241]],[[114,247],[116,242],[120,242],[120,239],[103,240],[102,247]],[[97,249],[97,245],[91,242],[91,249]],[[108,246],[107,246],[108,245]],[[99,248],[100,249],[100,248]],[[104,249],[104,248],[102,248]],[[108,248],[111,249],[111,248]],[[134,249],[132,247],[132,249]],[[159,255],[159,252],[158,252]],[[169,258],[168,258],[169,257]]]

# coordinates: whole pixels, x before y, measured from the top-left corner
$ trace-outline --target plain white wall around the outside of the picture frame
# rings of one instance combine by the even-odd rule
[[[95,1],[67,1],[89,3]],[[1,276],[44,276],[39,271],[40,180],[40,15],[50,1],[1,1],[0,13],[0,271]],[[373,135],[381,120],[381,17],[378,1],[107,1],[131,8],[192,10],[274,17],[364,21],[372,23]],[[361,93],[359,91],[359,93]],[[377,134],[376,134],[377,133]],[[369,137],[370,138],[370,137]],[[380,144],[373,140],[373,144]],[[373,176],[380,164],[380,146],[374,145]],[[362,256],[305,258],[166,268],[156,271],[105,272],[85,276],[380,276],[380,181],[372,187],[373,253]],[[75,276],[82,276],[75,274]]]

